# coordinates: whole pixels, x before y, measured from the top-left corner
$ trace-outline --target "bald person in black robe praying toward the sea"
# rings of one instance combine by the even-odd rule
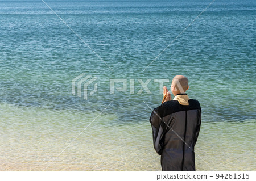
[[[176,75],[171,91],[163,87],[162,104],[151,113],[150,123],[156,153],[161,155],[162,170],[196,170],[195,152],[201,125],[201,107],[195,99],[189,99],[188,78]]]

